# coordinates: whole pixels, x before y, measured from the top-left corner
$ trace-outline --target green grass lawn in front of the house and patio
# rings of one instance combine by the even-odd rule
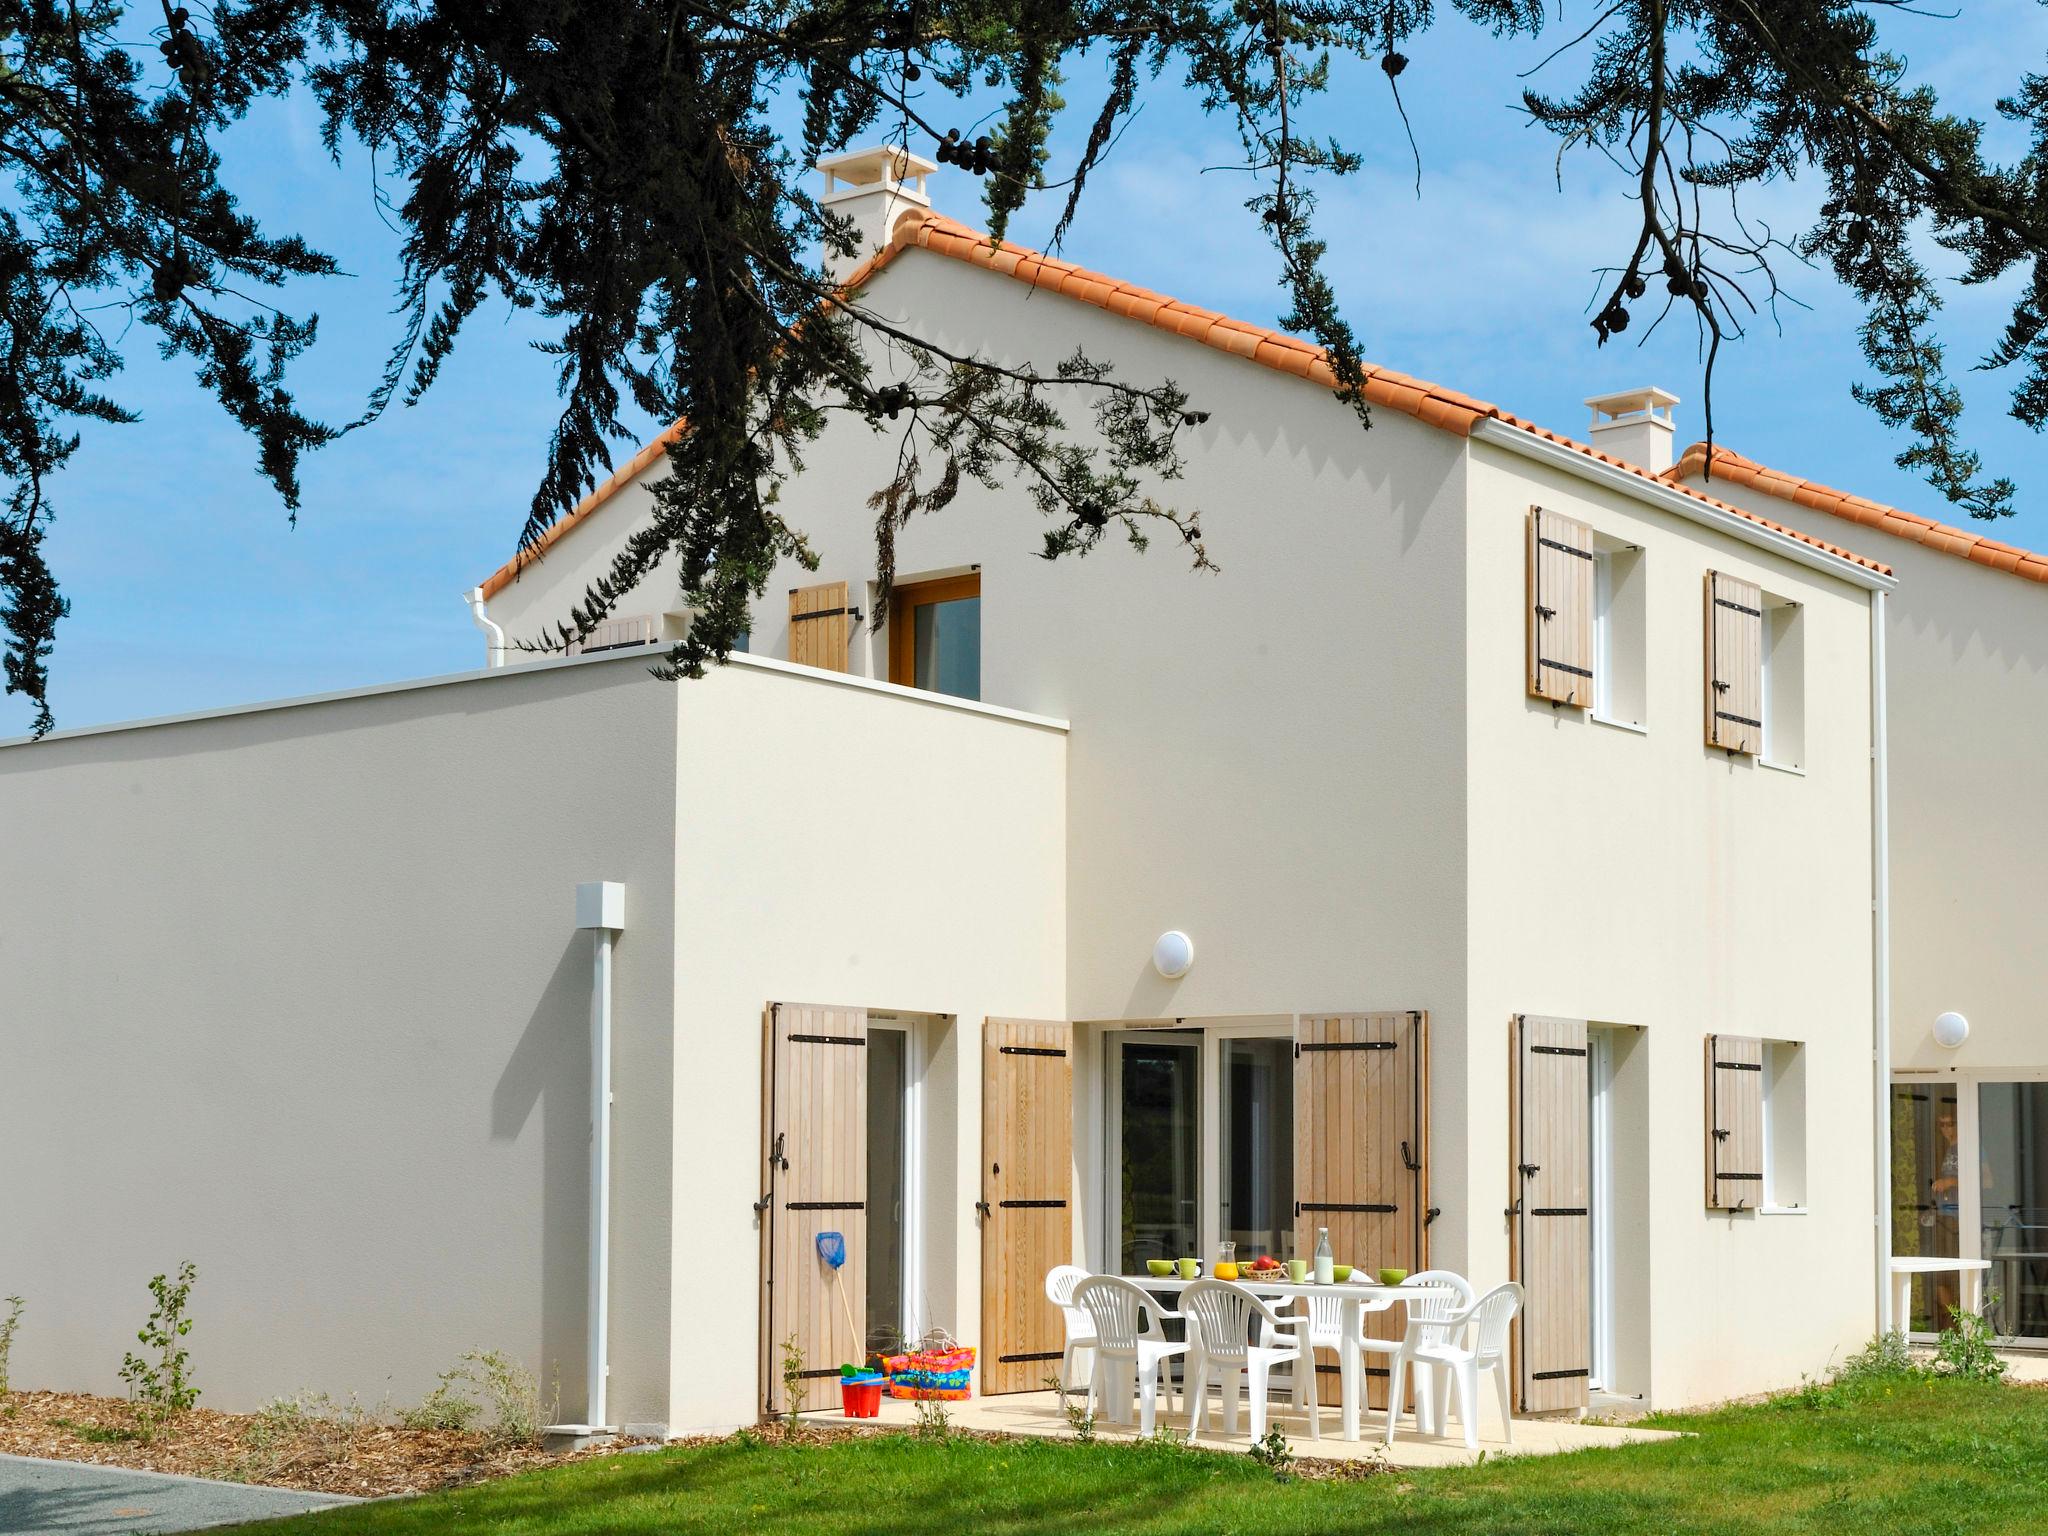
[[[303,1536],[641,1532],[2040,1532],[2048,1391],[1876,1380],[1665,1417],[1696,1438],[1362,1483],[1171,1446],[725,1442],[295,1520]]]

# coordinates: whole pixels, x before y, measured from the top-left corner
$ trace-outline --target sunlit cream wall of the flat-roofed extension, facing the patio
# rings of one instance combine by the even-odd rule
[[[926,1030],[924,1323],[979,1337],[981,1022],[1065,1018],[1055,723],[807,668],[682,686],[676,778],[672,1430],[760,1415],[762,1008],[944,1014]],[[834,1364],[834,1362],[815,1362]]]

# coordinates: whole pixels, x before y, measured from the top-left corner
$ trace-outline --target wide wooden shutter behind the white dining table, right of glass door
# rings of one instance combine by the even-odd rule
[[[1294,1020],[1294,1251],[1313,1262],[1329,1227],[1337,1264],[1430,1268],[1427,1020],[1305,1014]],[[1399,1307],[1366,1313],[1366,1333],[1399,1339]],[[1370,1356],[1368,1356],[1370,1360]],[[1317,1358],[1323,1401],[1339,1397],[1337,1356]],[[1366,1401],[1386,1407],[1386,1370],[1366,1368]]]

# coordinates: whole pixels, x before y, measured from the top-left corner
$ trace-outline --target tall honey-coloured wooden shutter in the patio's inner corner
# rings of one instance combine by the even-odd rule
[[[1044,1276],[1073,1264],[1073,1026],[981,1030],[981,1391],[1036,1393],[1067,1341]]]

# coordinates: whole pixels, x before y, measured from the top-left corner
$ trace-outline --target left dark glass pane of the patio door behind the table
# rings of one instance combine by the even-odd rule
[[[1200,1036],[1116,1040],[1118,1165],[1122,1171],[1118,1264],[1200,1257],[1196,1214],[1202,1159]]]

